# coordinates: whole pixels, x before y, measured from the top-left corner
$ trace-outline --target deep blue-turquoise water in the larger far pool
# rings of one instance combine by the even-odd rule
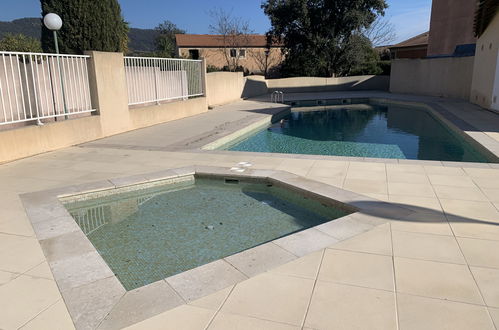
[[[223,149],[309,155],[488,162],[426,110],[349,105],[297,111]]]

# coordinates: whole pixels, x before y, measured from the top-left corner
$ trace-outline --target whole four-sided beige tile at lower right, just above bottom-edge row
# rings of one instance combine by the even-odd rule
[[[395,279],[401,293],[483,304],[465,265],[396,257]]]

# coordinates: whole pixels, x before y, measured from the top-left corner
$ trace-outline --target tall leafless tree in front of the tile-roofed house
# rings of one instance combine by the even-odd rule
[[[222,54],[229,71],[236,71],[240,65],[239,60],[246,56],[247,46],[250,41],[249,22],[233,17],[231,12],[218,8],[210,12],[213,23],[210,32],[219,35],[219,52]]]

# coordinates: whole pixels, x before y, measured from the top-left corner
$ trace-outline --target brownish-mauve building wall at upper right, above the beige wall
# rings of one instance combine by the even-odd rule
[[[476,0],[433,0],[428,56],[450,55],[457,45],[475,43]]]

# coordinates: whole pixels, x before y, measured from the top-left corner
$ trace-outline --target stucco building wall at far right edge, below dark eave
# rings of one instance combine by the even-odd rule
[[[499,110],[499,14],[477,41],[470,101]]]

